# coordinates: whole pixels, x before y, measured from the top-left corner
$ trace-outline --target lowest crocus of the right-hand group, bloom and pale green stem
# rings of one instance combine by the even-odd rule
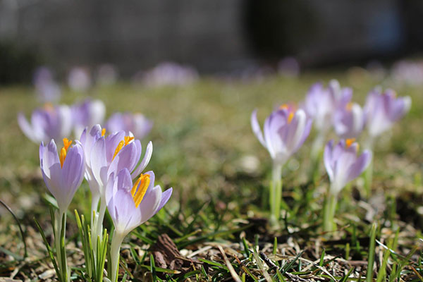
[[[355,139],[341,140],[337,145],[331,140],[324,149],[324,166],[331,180],[324,207],[325,231],[333,231],[333,216],[339,192],[347,183],[360,176],[372,160],[371,151],[364,150],[357,156],[358,150],[359,145]]]

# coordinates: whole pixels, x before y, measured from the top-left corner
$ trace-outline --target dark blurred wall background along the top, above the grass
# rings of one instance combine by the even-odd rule
[[[39,64],[129,77],[161,61],[214,73],[393,59],[422,51],[422,26],[421,0],[0,0],[0,82]]]

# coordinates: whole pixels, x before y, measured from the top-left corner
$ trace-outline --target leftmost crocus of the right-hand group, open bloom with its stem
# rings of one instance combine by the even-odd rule
[[[273,160],[270,189],[271,223],[276,225],[280,216],[282,198],[282,166],[300,149],[309,135],[312,120],[302,109],[282,105],[264,121],[264,134],[257,121],[257,110],[251,115],[252,131],[269,151]]]

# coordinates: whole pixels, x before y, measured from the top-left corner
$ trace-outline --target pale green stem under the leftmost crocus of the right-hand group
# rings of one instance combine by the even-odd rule
[[[282,200],[282,165],[274,162],[271,175],[271,191],[269,193],[270,223],[277,226],[281,215]]]

